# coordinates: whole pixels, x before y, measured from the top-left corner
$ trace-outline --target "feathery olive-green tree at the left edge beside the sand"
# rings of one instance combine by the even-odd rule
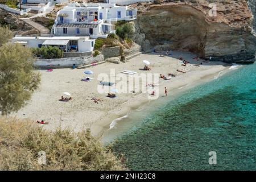
[[[34,72],[30,49],[20,44],[0,47],[0,111],[2,115],[18,111],[30,99],[40,83]]]

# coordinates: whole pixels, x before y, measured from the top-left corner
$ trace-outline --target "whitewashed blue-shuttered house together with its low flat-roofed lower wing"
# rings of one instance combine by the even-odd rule
[[[134,20],[137,9],[114,3],[71,3],[57,13],[51,35],[15,36],[13,43],[40,48],[57,46],[64,52],[92,52],[96,38],[107,38],[115,33],[118,20]]]

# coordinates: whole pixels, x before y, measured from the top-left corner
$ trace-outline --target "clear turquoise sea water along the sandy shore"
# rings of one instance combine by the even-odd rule
[[[113,143],[132,170],[256,170],[256,64],[189,89]],[[210,165],[209,152],[217,152]]]

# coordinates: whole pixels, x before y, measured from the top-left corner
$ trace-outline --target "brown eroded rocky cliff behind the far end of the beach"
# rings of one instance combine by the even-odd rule
[[[211,2],[211,1],[210,1]],[[254,1],[253,1],[254,2]],[[256,37],[247,1],[217,1],[217,16],[209,2],[140,3],[133,39],[144,51],[185,50],[227,63],[253,63]]]

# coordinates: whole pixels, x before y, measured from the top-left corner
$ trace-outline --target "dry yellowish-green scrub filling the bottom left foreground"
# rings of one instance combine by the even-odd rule
[[[38,152],[46,152],[46,165]],[[46,131],[30,121],[0,119],[0,170],[122,170],[121,162],[90,131]]]

